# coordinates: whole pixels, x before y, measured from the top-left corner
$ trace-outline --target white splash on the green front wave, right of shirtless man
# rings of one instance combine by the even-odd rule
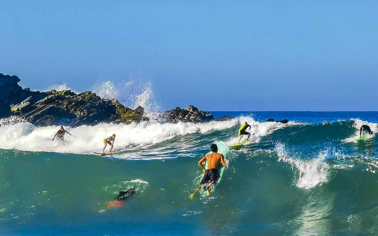
[[[298,188],[313,188],[327,182],[329,165],[324,162],[325,157],[328,156],[328,151],[322,151],[316,158],[303,160],[296,157],[291,157],[285,150],[285,145],[278,143],[275,151],[278,155],[278,161],[287,162],[293,169],[299,171],[297,179]]]

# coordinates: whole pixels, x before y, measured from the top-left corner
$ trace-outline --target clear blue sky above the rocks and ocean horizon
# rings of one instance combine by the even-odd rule
[[[377,1],[5,1],[23,87],[150,80],[164,109],[378,110]],[[44,86],[45,85],[45,86]]]

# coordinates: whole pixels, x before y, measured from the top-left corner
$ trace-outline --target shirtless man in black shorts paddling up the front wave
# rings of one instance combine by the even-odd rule
[[[220,164],[222,163],[222,165],[224,167],[226,166],[225,157],[223,156],[223,154],[217,153],[218,146],[213,143],[210,146],[210,150],[212,151],[212,153],[204,156],[198,162],[198,165],[202,168],[204,174],[203,174],[200,186],[198,186],[198,188],[196,188],[194,190],[194,193],[197,193],[204,184],[210,183],[209,188],[206,190],[206,193],[210,194],[210,190],[211,190],[212,186],[217,183],[217,181],[220,177],[220,175],[218,173],[218,168],[220,167]],[[208,162],[208,169],[207,170],[203,166],[203,163],[205,163],[205,162]],[[194,197],[194,193],[192,193],[190,195],[191,199]]]

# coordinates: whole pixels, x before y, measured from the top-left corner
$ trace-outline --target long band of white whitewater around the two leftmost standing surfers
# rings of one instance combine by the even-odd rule
[[[28,122],[20,122],[0,126],[0,133],[2,133],[0,148],[58,153],[91,153],[102,151],[104,138],[114,133],[116,134],[114,150],[122,150],[128,145],[152,145],[176,136],[224,130],[231,128],[235,123],[236,121],[212,121],[197,124],[182,122],[175,124],[141,122],[129,125],[100,123],[94,126],[65,127],[72,136],[66,134],[64,141],[52,141],[59,126],[37,127]]]

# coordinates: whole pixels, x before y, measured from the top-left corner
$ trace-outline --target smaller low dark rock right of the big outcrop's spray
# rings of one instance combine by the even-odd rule
[[[208,122],[214,120],[214,117],[205,111],[199,111],[193,105],[188,106],[185,110],[176,107],[170,111],[163,111],[160,114],[164,122],[177,123],[177,122]]]

